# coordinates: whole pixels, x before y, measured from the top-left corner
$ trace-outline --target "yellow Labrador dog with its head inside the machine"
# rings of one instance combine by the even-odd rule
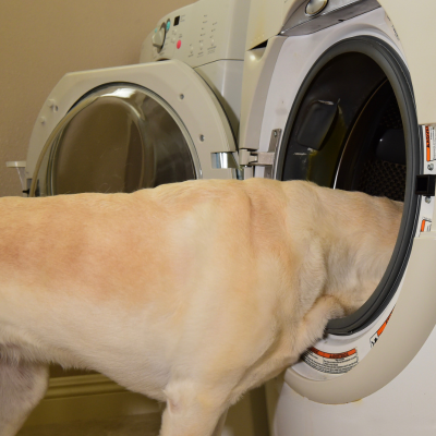
[[[243,392],[368,298],[402,213],[256,179],[0,208],[1,436],[43,398],[49,362],[166,401],[161,436],[210,435]]]

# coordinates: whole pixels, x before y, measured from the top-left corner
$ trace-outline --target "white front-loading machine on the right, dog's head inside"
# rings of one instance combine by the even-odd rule
[[[404,202],[368,301],[268,383],[274,436],[436,434],[435,17],[434,1],[252,2],[240,164]]]

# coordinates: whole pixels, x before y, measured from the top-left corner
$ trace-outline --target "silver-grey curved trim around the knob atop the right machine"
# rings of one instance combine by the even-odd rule
[[[376,0],[330,0],[319,13],[306,14],[303,3],[286,22],[280,35],[308,35],[380,8]]]

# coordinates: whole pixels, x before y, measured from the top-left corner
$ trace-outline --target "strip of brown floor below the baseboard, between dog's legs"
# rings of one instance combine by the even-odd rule
[[[158,436],[160,413],[80,421],[68,424],[28,426],[17,436]]]

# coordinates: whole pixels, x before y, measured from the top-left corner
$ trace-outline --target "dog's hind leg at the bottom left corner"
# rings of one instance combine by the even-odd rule
[[[0,436],[13,436],[19,432],[44,397],[47,384],[47,365],[15,363],[0,356]]]

